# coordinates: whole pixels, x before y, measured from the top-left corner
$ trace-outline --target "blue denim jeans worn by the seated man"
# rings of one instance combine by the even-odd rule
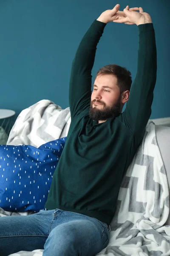
[[[60,209],[0,218],[0,256],[44,249],[43,256],[94,256],[108,244],[110,226]]]

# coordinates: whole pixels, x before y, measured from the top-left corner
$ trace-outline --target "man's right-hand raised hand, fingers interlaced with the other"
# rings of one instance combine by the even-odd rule
[[[150,15],[144,12],[142,7],[139,7],[139,12],[136,12],[136,10],[132,10],[132,8],[130,9],[129,6],[126,6],[126,8],[123,10],[126,17],[119,16],[116,20],[113,20],[113,22],[125,23],[129,25],[136,24],[137,26],[144,23],[152,23]]]

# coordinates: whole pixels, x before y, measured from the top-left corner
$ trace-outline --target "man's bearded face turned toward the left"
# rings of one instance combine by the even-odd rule
[[[89,115],[94,120],[107,120],[119,116],[120,89],[114,75],[99,75],[94,81]]]

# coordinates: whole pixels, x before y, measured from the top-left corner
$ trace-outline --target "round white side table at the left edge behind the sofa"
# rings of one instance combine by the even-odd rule
[[[11,117],[15,115],[15,111],[10,109],[0,109],[0,145],[5,145],[11,130]]]

